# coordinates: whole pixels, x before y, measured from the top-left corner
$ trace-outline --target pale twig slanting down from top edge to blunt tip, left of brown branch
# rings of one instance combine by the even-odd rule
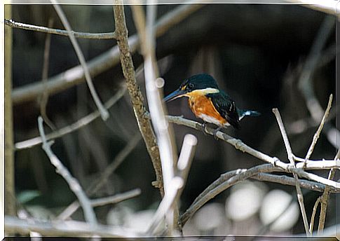
[[[90,93],[93,97],[93,100],[95,101],[95,105],[100,111],[100,116],[102,116],[103,121],[106,121],[107,118],[109,118],[109,112],[107,111],[107,109],[104,108],[104,106],[102,105],[102,102],[100,101],[100,98],[97,95],[97,92],[95,91],[95,86],[93,85],[93,81],[90,76],[90,71],[88,70],[88,65],[86,64],[86,60],[83,55],[83,52],[81,51],[81,48],[78,42],[76,41],[76,38],[74,37],[71,25],[69,25],[69,21],[64,15],[62,8],[58,5],[57,0],[50,0],[50,2],[53,4],[53,7],[55,8],[57,15],[59,15],[59,18],[62,21],[62,25],[64,25],[65,29],[67,30],[69,34],[69,40],[71,40],[72,46],[74,50],[76,51],[76,56],[78,57],[79,62],[81,63],[81,67],[83,68],[83,72],[86,78],[86,83],[88,84]]]

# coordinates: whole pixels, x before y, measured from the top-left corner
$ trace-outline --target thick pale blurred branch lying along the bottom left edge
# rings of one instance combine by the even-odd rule
[[[81,221],[40,221],[36,219],[18,219],[5,216],[5,232],[29,235],[34,231],[44,236],[64,237],[126,237],[137,236],[138,233],[128,228],[114,226],[97,226]]]

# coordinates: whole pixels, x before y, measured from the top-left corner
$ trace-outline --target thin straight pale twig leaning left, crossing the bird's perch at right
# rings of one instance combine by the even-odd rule
[[[292,148],[290,147],[290,141],[287,137],[287,132],[285,131],[285,126],[283,125],[282,118],[280,116],[280,112],[278,109],[274,108],[273,113],[276,116],[276,120],[278,121],[278,126],[280,128],[281,135],[283,137],[283,142],[285,142],[285,148],[287,151],[287,156],[288,159],[290,160],[290,163],[295,167],[295,162],[294,162],[294,155],[292,152]],[[306,209],[304,207],[304,195],[302,195],[301,192],[301,187],[299,184],[299,177],[297,176],[296,172],[293,172],[293,176],[295,179],[295,186],[297,188],[297,200],[299,201],[300,209],[301,209],[301,214],[302,214],[302,219],[304,221],[304,228],[306,231],[306,235],[310,235],[311,233],[309,232],[309,225],[308,225],[308,219],[307,219],[307,214],[306,214]]]

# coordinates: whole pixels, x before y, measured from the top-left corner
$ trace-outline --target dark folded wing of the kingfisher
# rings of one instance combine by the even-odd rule
[[[236,104],[228,95],[224,92],[218,92],[213,94],[208,94],[207,97],[210,97],[212,104],[214,104],[215,109],[219,111],[219,114],[226,118],[226,121],[233,128],[239,129],[240,123],[238,123],[238,111],[236,109]]]

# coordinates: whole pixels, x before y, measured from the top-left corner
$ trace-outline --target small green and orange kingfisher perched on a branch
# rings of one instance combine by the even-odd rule
[[[257,111],[238,109],[233,99],[219,89],[215,79],[209,74],[196,74],[186,78],[164,101],[170,102],[183,96],[189,97],[189,106],[195,116],[203,119],[205,123],[217,125],[217,130],[229,125],[239,129],[239,122],[243,117],[260,114]]]

